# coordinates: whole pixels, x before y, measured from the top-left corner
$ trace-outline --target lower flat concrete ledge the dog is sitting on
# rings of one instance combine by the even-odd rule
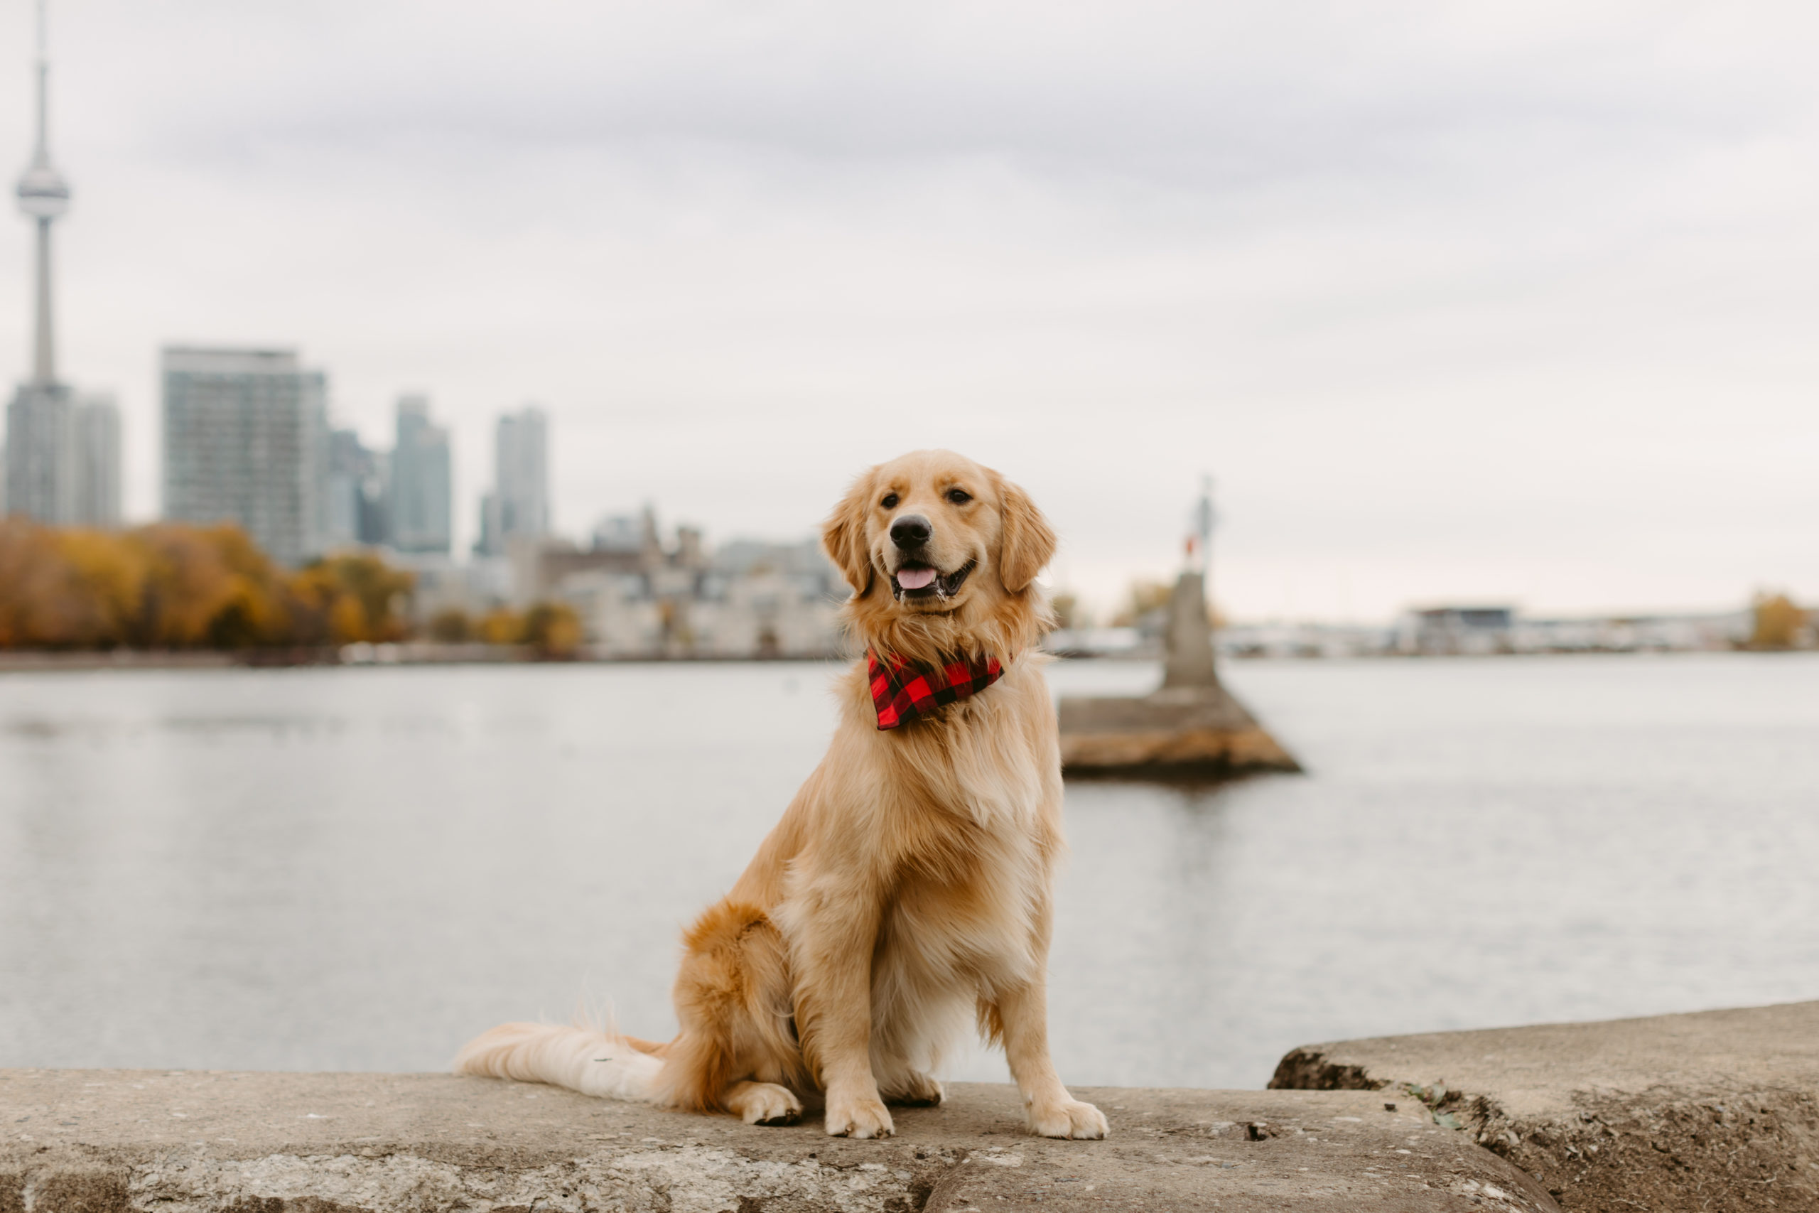
[[[1408,1098],[1080,1095],[1110,1140],[1026,1137],[988,1084],[849,1142],[451,1075],[13,1069],[0,1213],[1557,1209]]]

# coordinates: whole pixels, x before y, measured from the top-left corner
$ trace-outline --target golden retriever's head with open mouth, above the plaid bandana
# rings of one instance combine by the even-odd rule
[[[1055,533],[1015,484],[951,451],[915,451],[853,482],[822,546],[868,640],[906,657],[1010,657],[1046,622],[1035,575]]]

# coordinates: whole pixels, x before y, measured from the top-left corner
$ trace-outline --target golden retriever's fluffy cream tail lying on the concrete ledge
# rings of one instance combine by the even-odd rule
[[[455,1073],[548,1082],[582,1095],[653,1102],[664,1060],[617,1031],[560,1024],[500,1024],[455,1055]]]

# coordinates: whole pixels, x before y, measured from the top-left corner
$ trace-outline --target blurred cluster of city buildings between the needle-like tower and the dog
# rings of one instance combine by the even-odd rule
[[[429,400],[397,402],[393,446],[327,420],[327,378],[291,349],[164,351],[164,500],[176,522],[231,520],[276,560],[366,547],[417,576],[413,613],[480,618],[540,602],[575,609],[598,657],[817,657],[833,651],[840,578],[815,540],[664,538],[655,511],[553,533],[549,418],[493,431],[478,540],[455,551],[453,444]]]

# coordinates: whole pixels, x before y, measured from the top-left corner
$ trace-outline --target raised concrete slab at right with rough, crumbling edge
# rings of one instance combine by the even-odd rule
[[[1315,1044],[1270,1086],[1413,1091],[1564,1209],[1819,1211],[1819,1002]]]

